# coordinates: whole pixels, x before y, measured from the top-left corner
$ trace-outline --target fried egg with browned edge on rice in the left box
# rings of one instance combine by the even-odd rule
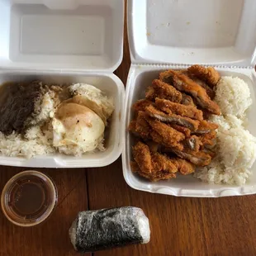
[[[81,155],[97,148],[103,140],[102,118],[88,107],[63,102],[52,121],[53,145],[60,153]]]

